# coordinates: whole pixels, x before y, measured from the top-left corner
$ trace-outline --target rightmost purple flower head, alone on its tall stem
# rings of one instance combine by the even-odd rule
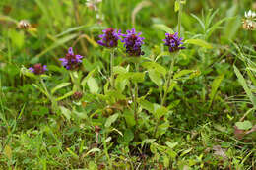
[[[185,47],[180,46],[183,44],[183,38],[179,38],[177,32],[175,32],[174,34],[166,33],[165,35],[166,37],[165,39],[163,39],[163,41],[165,42],[164,45],[169,47],[169,52],[176,52],[181,49],[185,49]]]

